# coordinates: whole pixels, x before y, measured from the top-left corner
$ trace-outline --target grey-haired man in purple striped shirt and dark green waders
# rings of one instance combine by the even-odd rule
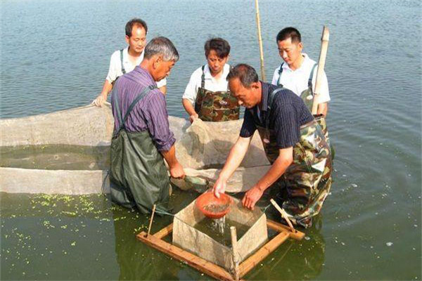
[[[141,65],[113,87],[110,193],[113,202],[146,214],[153,204],[166,209],[169,201],[164,159],[172,177],[183,178],[184,170],[176,158],[165,96],[155,83],[170,74],[179,53],[165,37],[152,39],[144,52]]]

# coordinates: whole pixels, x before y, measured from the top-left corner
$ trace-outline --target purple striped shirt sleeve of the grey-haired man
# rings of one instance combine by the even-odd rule
[[[170,131],[165,97],[158,89],[151,93],[144,115],[155,147],[159,151],[170,150],[176,142],[176,138],[174,138],[174,133]]]

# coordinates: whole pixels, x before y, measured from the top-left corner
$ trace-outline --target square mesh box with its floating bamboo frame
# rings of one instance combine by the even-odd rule
[[[170,226],[162,228],[153,235],[141,232],[136,237],[151,247],[184,261],[189,266],[217,280],[238,280],[239,277],[243,277],[257,264],[260,264],[288,237],[295,240],[302,240],[305,237],[305,233],[290,230],[288,226],[267,220],[267,216],[260,208],[255,207],[251,211],[243,208],[240,200],[232,197],[231,200],[233,202],[230,205],[230,211],[219,220],[224,219],[226,223],[237,225],[236,229],[241,235],[237,236],[235,254],[231,244],[215,240],[215,237],[208,235],[211,233],[203,233],[198,229],[198,224],[201,222],[213,220],[207,218],[196,207],[196,201],[179,211]],[[241,233],[238,226],[245,226],[247,229]],[[267,228],[277,232],[277,235],[271,240],[268,240]],[[165,242],[163,238],[171,233],[172,243]]]

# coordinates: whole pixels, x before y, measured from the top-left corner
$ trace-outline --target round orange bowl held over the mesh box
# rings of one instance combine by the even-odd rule
[[[213,192],[205,192],[196,199],[196,207],[208,218],[222,218],[230,211],[233,200],[226,193],[215,197]]]

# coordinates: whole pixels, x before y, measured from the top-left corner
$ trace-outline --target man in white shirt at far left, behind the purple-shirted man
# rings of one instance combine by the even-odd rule
[[[143,60],[143,48],[146,46],[146,33],[148,27],[146,22],[139,18],[134,18],[127,22],[125,27],[127,48],[117,50],[111,55],[108,75],[104,82],[103,90],[100,95],[92,102],[96,106],[102,106],[107,100],[108,93],[113,89],[113,84],[117,78],[131,72]],[[166,79],[157,82],[157,86],[166,93]]]

